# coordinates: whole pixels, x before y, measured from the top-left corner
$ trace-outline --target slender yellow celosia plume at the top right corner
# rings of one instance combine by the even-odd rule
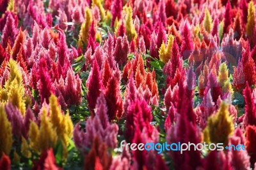
[[[255,26],[255,7],[253,1],[250,1],[248,6],[248,15],[247,15],[247,24],[246,24],[246,33],[248,36],[253,35],[253,30]]]

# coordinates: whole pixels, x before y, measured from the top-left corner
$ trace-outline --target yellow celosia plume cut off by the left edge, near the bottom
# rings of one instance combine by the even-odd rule
[[[0,157],[2,153],[10,154],[12,143],[12,125],[7,119],[3,105],[0,104]]]

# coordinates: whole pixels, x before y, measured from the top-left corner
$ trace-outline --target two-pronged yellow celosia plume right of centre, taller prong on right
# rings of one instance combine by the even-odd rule
[[[169,35],[167,46],[165,47],[165,44],[163,42],[159,49],[159,58],[161,61],[163,61],[163,63],[167,63],[171,58],[173,40],[174,40],[174,36]]]

